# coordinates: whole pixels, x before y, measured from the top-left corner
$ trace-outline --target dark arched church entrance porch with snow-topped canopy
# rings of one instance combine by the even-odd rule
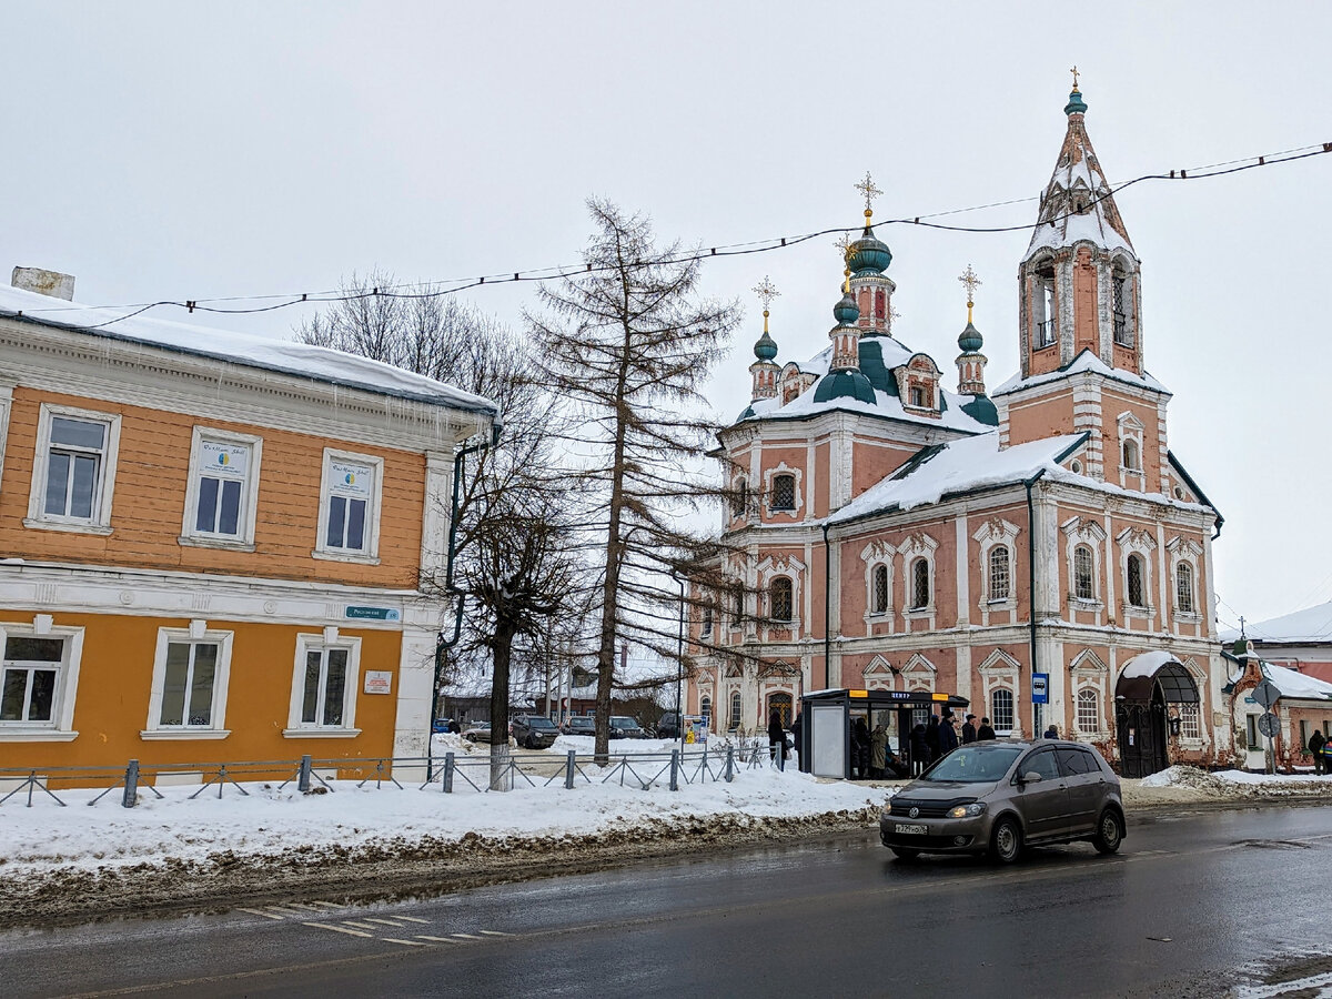
[[[1169,653],[1128,661],[1115,685],[1122,777],[1147,777],[1169,766],[1169,710],[1199,703],[1197,685]]]

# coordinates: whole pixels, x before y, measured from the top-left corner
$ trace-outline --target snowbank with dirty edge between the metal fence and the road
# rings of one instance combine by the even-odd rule
[[[485,751],[488,747],[482,747]],[[765,761],[766,763],[766,761]],[[647,781],[655,766],[641,763]],[[436,782],[425,790],[398,789],[385,782],[357,787],[354,781],[332,781],[332,791],[301,794],[294,783],[249,782],[242,795],[228,785],[196,799],[194,787],[164,787],[163,799],[148,790],[139,805],[124,809],[120,793],[88,802],[92,790],[57,790],[67,807],[37,793],[32,807],[16,795],[0,806],[0,879],[59,868],[117,868],[133,864],[201,862],[218,854],[258,856],[321,854],[329,848],[393,848],[440,840],[473,842],[476,836],[519,844],[539,838],[581,838],[599,834],[698,835],[713,826],[762,826],[774,819],[815,819],[847,814],[868,825],[868,815],[892,793],[843,781],[825,781],[797,770],[779,773],[767,766],[738,769],[731,783],[681,782],[671,791],[666,778],[643,790],[630,777],[623,783],[607,771],[583,767],[566,790],[562,777],[550,786],[537,782],[506,793],[477,793],[461,777],[454,793]],[[715,769],[715,763],[714,763]],[[460,770],[460,773],[464,773]],[[691,774],[693,777],[693,774]],[[477,771],[473,781],[481,782]],[[484,782],[482,782],[482,786]],[[316,789],[321,791],[322,789]]]

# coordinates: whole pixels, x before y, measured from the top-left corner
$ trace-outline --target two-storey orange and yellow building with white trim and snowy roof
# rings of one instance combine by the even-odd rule
[[[0,767],[424,755],[441,603],[421,581],[454,453],[496,406],[109,320],[0,289]]]

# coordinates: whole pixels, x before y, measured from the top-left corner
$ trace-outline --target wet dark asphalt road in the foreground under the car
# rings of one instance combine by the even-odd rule
[[[396,904],[7,932],[0,994],[1211,996],[1276,954],[1332,972],[1329,888],[1328,807],[1135,818],[1118,856],[1010,868],[902,863],[867,830]]]

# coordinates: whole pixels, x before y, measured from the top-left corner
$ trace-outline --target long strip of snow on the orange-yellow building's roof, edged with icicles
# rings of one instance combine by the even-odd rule
[[[292,340],[276,340],[254,333],[234,333],[210,326],[133,316],[123,310],[64,302],[19,288],[0,288],[0,317],[40,322],[104,340],[209,357],[246,368],[280,372],[329,385],[341,385],[381,396],[394,396],[434,406],[448,406],[494,417],[494,402],[473,396],[424,374],[416,374],[382,361],[348,354]]]

